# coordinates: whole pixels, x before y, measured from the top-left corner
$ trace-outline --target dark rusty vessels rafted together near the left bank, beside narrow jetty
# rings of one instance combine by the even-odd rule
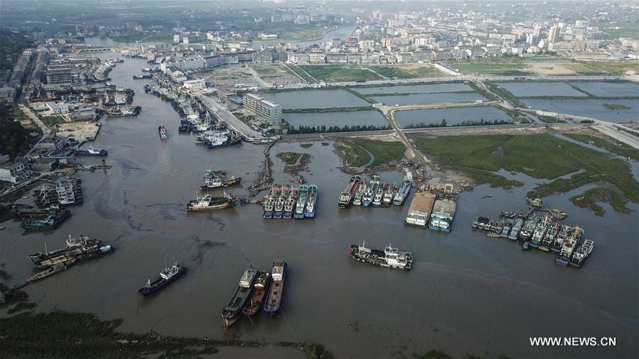
[[[35,252],[28,255],[33,262],[33,266],[39,272],[28,278],[25,283],[43,280],[46,277],[55,275],[66,270],[75,263],[100,258],[103,255],[113,253],[114,248],[102,241],[91,239],[87,236],[74,238],[69,236],[65,247],[48,251],[45,243],[44,252]]]

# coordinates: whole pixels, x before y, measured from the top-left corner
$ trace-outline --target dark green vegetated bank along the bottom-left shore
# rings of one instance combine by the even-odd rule
[[[121,319],[102,321],[93,314],[54,311],[23,313],[0,319],[0,348],[3,358],[199,358],[219,347],[259,348],[263,341],[217,341],[209,338],[177,338],[120,333]],[[278,342],[275,346],[296,348],[308,358],[332,359],[323,346],[313,343]]]

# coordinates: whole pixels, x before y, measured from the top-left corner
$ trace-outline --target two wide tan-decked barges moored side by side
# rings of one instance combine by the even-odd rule
[[[453,192],[452,184],[445,184],[443,190],[422,187],[413,195],[404,224],[448,233],[455,211],[457,193]]]

